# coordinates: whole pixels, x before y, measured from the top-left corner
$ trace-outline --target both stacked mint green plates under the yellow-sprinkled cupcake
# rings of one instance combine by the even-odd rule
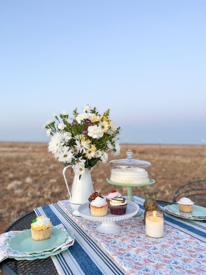
[[[74,240],[74,234],[66,229],[70,237]],[[67,234],[60,229],[52,228],[51,237],[47,240],[36,241],[31,237],[31,229],[25,229],[20,234],[15,235],[7,243],[7,247],[18,254],[29,254],[29,257],[10,257],[16,260],[36,260],[44,259],[53,255],[57,255],[67,248],[59,248],[68,239]],[[38,255],[36,255],[38,254]]]

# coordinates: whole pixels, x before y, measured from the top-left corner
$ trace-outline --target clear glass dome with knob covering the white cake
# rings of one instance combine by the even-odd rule
[[[127,151],[127,158],[122,160],[111,160],[110,169],[115,168],[143,168],[148,173],[148,178],[152,179],[151,163],[145,160],[135,160],[132,158],[132,151]]]

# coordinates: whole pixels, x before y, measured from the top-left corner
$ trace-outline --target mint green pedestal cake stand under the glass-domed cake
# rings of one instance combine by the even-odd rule
[[[132,183],[123,183],[123,182],[112,182],[110,181],[110,178],[107,178],[107,182],[110,184],[118,185],[118,186],[127,186],[127,200],[135,201],[133,197],[133,188],[134,187],[143,187],[148,185],[153,185],[155,183],[154,180],[150,179],[150,182],[148,183],[141,183],[141,184],[132,184]],[[142,215],[142,211],[138,211],[134,217],[139,217]]]

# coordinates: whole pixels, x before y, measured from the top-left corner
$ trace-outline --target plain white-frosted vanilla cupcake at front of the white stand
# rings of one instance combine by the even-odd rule
[[[107,215],[108,204],[104,198],[96,197],[90,204],[92,216],[102,217]]]

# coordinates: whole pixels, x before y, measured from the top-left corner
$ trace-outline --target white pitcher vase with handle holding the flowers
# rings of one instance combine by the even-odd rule
[[[65,171],[67,170],[68,167],[71,167],[71,165],[66,166],[63,169],[63,177],[67,186],[67,190],[69,193],[69,203],[71,208],[74,210],[72,212],[72,215],[74,216],[79,216],[79,213],[77,211],[78,207],[81,204],[84,204],[86,202],[88,202],[88,198],[90,196],[91,193],[94,192],[94,188],[93,188],[93,184],[92,184],[92,178],[91,178],[91,170],[88,170],[85,168],[85,174],[81,175],[81,178],[79,180],[79,175],[74,173],[74,180],[72,183],[72,188],[71,188],[71,192],[69,190],[69,186],[67,184],[67,179],[65,176]]]

